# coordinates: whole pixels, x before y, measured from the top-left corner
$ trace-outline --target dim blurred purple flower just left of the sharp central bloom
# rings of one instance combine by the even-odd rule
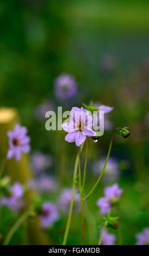
[[[54,110],[54,103],[52,101],[45,101],[44,103],[40,104],[35,109],[35,117],[39,121],[45,120],[45,114],[47,111]]]

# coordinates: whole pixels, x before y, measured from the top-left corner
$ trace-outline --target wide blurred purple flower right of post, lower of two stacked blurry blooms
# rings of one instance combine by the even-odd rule
[[[49,192],[57,190],[57,181],[46,174],[41,175],[38,179],[29,180],[28,187],[39,192]]]

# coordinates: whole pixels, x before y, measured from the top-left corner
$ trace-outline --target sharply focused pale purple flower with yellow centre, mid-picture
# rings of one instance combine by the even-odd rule
[[[96,135],[96,132],[92,130],[92,116],[83,107],[73,107],[70,122],[62,124],[61,127],[68,132],[65,141],[76,142],[77,147],[85,141],[86,136]]]

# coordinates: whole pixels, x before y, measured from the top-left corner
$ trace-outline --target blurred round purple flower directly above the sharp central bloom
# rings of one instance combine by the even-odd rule
[[[71,75],[61,74],[55,79],[55,95],[62,100],[74,96],[77,93],[77,89],[76,80]]]

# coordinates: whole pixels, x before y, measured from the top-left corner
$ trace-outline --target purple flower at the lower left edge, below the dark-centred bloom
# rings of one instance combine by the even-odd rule
[[[8,189],[9,196],[2,197],[1,205],[7,205],[10,210],[18,211],[23,207],[22,197],[24,190],[20,182],[15,182]]]

